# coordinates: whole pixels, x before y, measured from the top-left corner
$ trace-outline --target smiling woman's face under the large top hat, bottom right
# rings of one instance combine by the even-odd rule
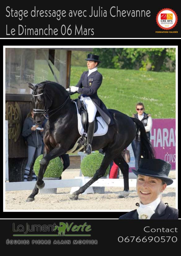
[[[136,191],[143,205],[149,204],[157,199],[166,188],[161,179],[138,174],[136,181]]]

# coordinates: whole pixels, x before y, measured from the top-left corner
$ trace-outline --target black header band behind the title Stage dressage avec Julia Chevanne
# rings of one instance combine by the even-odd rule
[[[9,16],[9,12],[6,11],[6,7],[10,7],[7,10],[11,12],[11,8],[15,11],[19,10],[27,10],[28,11],[28,17],[23,17],[22,20],[19,20],[21,18],[14,17],[15,12],[13,12],[12,15]],[[112,17],[110,15],[110,9],[112,9],[112,15],[116,15],[116,17]],[[114,8],[115,7],[115,8]],[[144,10],[150,11],[148,13],[149,17],[132,17],[131,15],[128,15],[126,17],[117,17],[117,7],[119,11],[129,11],[131,10]],[[65,10],[66,16],[60,17],[60,20],[57,20],[56,17],[32,17],[31,11],[36,8],[37,10]],[[98,17],[89,17],[92,15],[92,8],[95,11],[95,15],[98,15]],[[156,16],[159,11],[161,11],[164,8],[170,8],[173,11],[176,12],[178,16],[178,23],[173,29],[167,30],[169,33],[156,33],[155,31],[165,31],[161,29],[157,23],[156,23]],[[84,17],[80,14],[80,17],[77,16],[78,12],[73,17],[69,16],[69,11],[84,11],[84,14],[86,17]],[[99,11],[100,10],[100,11]],[[107,12],[106,17],[103,16],[103,11]],[[154,3],[153,1],[150,2],[109,2],[109,4],[106,4],[105,2],[103,4],[99,3],[91,3],[88,2],[86,4],[81,3],[43,3],[40,4],[39,2],[31,2],[31,3],[18,3],[18,2],[12,2],[7,3],[3,2],[1,4],[1,38],[179,38],[180,37],[180,31],[179,31],[179,5],[178,2],[162,2],[157,1]],[[101,12],[102,11],[102,12]],[[97,14],[98,13],[98,14]],[[100,13],[100,15],[99,15]],[[102,13],[102,15],[101,15]],[[119,12],[118,12],[119,14]],[[9,17],[6,17],[9,16]],[[43,15],[43,14],[42,14]],[[125,15],[125,14],[124,14]],[[58,18],[59,19],[59,18]],[[58,29],[57,35],[25,35],[25,29],[28,28],[48,28],[48,24],[50,24],[50,28]],[[6,29],[7,25],[7,29]],[[22,27],[20,26],[20,30],[18,33],[18,26],[22,25],[24,28],[24,33]],[[63,25],[63,27],[62,27]],[[70,26],[71,25],[71,26]],[[80,30],[80,27],[82,25],[83,32],[78,34],[75,33],[75,26],[77,27],[78,31]],[[26,27],[25,27],[26,26]],[[70,27],[69,27],[70,26]],[[62,33],[60,32],[62,27]],[[67,33],[65,33],[65,27],[68,29],[68,27],[72,30]],[[15,29],[15,35],[14,33],[11,34],[11,29]],[[85,29],[85,32],[84,32]],[[92,30],[93,29],[93,30]],[[87,31],[87,32],[86,32]],[[88,32],[89,31],[89,32]],[[177,31],[178,33],[170,33]],[[65,33],[65,34],[64,34]],[[9,34],[9,35],[8,35]]]

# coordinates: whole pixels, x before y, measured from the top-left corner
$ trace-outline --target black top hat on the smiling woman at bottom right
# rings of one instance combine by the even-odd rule
[[[171,169],[171,164],[161,159],[140,159],[138,170],[133,170],[133,173],[138,175],[151,176],[157,179],[162,179],[167,185],[173,183],[173,180],[168,178]]]

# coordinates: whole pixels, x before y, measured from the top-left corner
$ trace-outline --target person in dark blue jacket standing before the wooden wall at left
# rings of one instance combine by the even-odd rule
[[[29,172],[33,162],[37,159],[41,154],[41,146],[42,146],[42,136],[43,129],[41,126],[35,125],[33,122],[33,109],[28,113],[27,118],[24,120],[22,135],[25,137],[25,140],[28,144],[28,162],[24,171],[24,181],[28,181]],[[33,170],[32,172],[32,181],[36,181],[37,176]]]

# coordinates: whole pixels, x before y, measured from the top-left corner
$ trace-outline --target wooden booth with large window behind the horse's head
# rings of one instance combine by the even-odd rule
[[[27,82],[45,80],[70,85],[71,52],[92,48],[6,48],[6,120],[8,120],[9,181],[22,181],[28,147],[21,135],[24,120],[32,107]]]

